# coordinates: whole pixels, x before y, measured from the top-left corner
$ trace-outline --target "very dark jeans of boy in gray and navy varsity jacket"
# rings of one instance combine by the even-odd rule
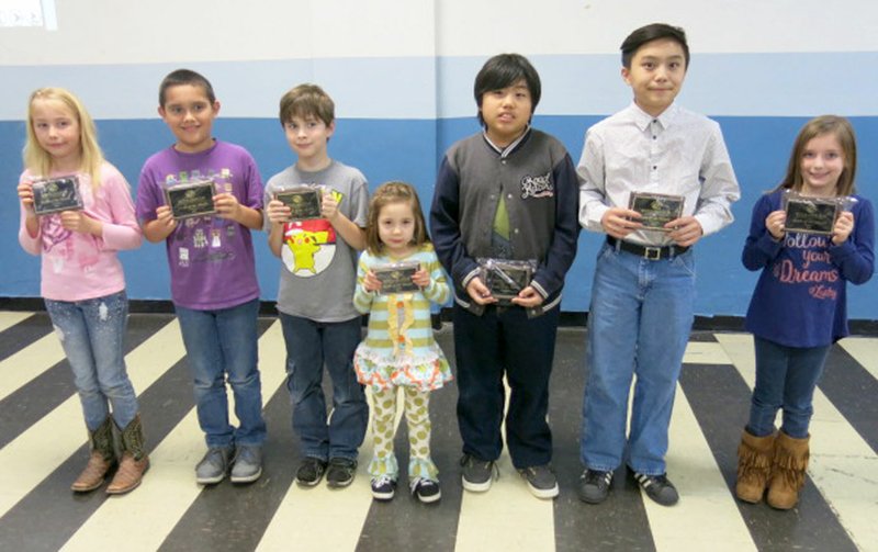
[[[505,374],[510,387],[506,443],[513,465],[525,469],[548,464],[552,460],[552,431],[545,415],[559,308],[528,318],[518,306],[488,306],[476,316],[455,303],[453,314],[463,452],[480,460],[499,458]]]

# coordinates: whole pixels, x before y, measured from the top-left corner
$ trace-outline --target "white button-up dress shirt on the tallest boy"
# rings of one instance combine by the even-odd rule
[[[731,224],[731,204],[741,196],[719,124],[676,103],[656,117],[631,103],[590,127],[576,171],[579,224],[593,232],[604,232],[604,213],[627,207],[631,192],[649,192],[682,195],[683,215],[694,215],[707,236]],[[673,244],[655,230],[624,239]]]

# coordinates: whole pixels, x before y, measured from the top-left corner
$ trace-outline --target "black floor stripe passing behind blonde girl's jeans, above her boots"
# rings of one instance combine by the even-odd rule
[[[125,335],[125,354],[153,337],[169,322],[167,316],[131,317]],[[45,323],[52,326],[48,319]],[[3,397],[0,401],[0,448],[9,444],[75,393],[74,375],[65,359]]]

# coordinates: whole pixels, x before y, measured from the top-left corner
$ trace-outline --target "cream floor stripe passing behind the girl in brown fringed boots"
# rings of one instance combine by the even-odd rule
[[[755,360],[748,335],[717,336],[753,388]],[[741,420],[741,425],[745,420]],[[878,455],[826,396],[814,393],[808,474],[860,550],[878,550]]]

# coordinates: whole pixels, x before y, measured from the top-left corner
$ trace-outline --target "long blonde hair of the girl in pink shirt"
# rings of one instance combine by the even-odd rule
[[[104,158],[101,147],[98,145],[94,121],[79,98],[64,88],[40,88],[31,94],[27,101],[27,142],[24,144],[23,151],[24,167],[32,173],[44,177],[52,172],[52,155],[43,149],[34,132],[34,102],[37,100],[60,102],[79,123],[80,171],[91,178],[92,190],[100,188],[101,165]]]

